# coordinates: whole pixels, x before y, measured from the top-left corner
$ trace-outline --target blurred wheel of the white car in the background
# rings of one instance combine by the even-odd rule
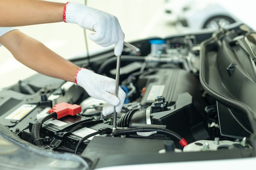
[[[215,16],[204,23],[203,28],[219,29],[220,27],[236,22],[233,18],[227,16]]]

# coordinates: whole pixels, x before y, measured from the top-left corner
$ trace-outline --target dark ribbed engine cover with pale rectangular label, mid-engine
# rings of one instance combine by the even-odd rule
[[[168,102],[176,102],[178,95],[186,92],[198,102],[202,101],[199,79],[182,69],[158,68],[148,71],[140,75],[138,84],[141,88],[146,87],[140,102],[142,106],[150,106],[157,96],[163,96]]]

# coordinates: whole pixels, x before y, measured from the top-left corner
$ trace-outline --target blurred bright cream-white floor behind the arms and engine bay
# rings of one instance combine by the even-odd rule
[[[56,1],[56,0],[55,0]],[[61,0],[60,0],[61,1]],[[74,2],[74,0],[72,1]],[[77,0],[81,3],[81,1]],[[111,13],[119,19],[126,35],[125,41],[177,33],[174,24],[164,17],[164,0],[88,0],[87,5]],[[18,27],[20,31],[40,40],[54,52],[69,59],[85,54],[85,35],[76,24],[64,22]],[[86,36],[90,32],[86,31]],[[89,51],[99,52],[102,48],[88,40]],[[0,89],[17,83],[36,72],[17,62],[3,46],[0,48]]]

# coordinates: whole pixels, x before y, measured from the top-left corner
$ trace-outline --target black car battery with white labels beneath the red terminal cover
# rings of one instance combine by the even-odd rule
[[[29,128],[23,130],[22,138],[24,140],[32,143],[31,128],[34,123],[40,122],[40,120],[41,119],[31,121],[29,123]],[[44,143],[49,147],[49,149],[74,152],[76,145],[81,139],[83,139],[83,137],[90,135],[93,132],[97,132],[101,128],[112,127],[108,124],[104,124],[102,120],[95,120],[92,117],[68,115],[61,119],[49,119],[45,121],[40,130],[40,137],[44,139]],[[78,152],[82,152],[92,138],[93,137],[90,137],[83,141],[79,146]]]

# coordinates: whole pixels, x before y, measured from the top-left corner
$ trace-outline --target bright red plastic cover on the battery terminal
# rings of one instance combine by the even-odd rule
[[[54,107],[49,110],[49,113],[56,113],[57,119],[60,119],[61,117],[65,117],[67,115],[76,115],[78,113],[81,113],[82,109],[81,106],[77,104],[68,104],[65,102],[59,103],[54,105]]]

